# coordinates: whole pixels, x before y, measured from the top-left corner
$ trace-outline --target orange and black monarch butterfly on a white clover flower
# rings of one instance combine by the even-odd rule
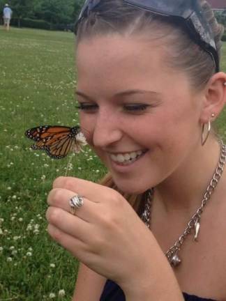
[[[54,159],[66,157],[70,151],[79,153],[86,145],[84,135],[77,125],[73,128],[61,125],[40,125],[25,132],[25,136],[35,144],[33,150],[43,150]]]

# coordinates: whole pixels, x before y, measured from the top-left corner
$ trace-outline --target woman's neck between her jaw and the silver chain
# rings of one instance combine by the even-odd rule
[[[200,206],[220,157],[218,141],[211,139],[190,155],[172,176],[155,188],[154,199],[166,213],[193,213]]]

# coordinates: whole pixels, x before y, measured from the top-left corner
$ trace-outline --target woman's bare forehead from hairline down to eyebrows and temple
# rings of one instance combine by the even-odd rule
[[[183,72],[166,63],[164,41],[141,36],[99,36],[77,45],[77,88],[96,98],[107,98],[126,89],[172,90]],[[181,82],[182,84],[182,82]],[[96,95],[95,95],[96,94]]]

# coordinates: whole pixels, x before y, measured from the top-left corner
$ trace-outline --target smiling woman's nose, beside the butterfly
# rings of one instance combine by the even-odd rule
[[[116,114],[99,111],[93,127],[93,146],[105,148],[121,140],[123,133]]]

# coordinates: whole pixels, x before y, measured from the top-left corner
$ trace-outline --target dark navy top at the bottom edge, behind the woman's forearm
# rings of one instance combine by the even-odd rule
[[[216,301],[213,299],[200,298],[195,295],[183,293],[185,301]],[[126,301],[125,295],[121,288],[111,280],[107,280],[100,301]]]

